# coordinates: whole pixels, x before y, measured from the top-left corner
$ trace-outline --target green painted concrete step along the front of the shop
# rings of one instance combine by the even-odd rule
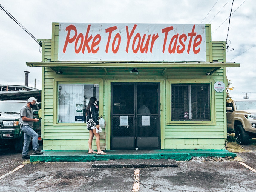
[[[91,162],[117,159],[175,159],[187,161],[191,157],[236,157],[227,150],[106,150],[106,155],[88,154],[88,150],[43,150],[43,155],[31,155],[30,161],[40,162]]]

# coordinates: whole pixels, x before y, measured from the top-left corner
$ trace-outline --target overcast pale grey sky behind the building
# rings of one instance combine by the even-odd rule
[[[51,39],[52,22],[170,24],[202,22],[211,24],[213,41],[225,41],[232,0],[0,0],[0,4],[37,39]],[[234,100],[243,99],[245,96],[243,92],[250,92],[249,98],[256,99],[255,11],[255,1],[234,0],[228,35],[229,47],[234,50],[226,53],[227,62],[241,63],[239,68],[227,70],[227,77],[235,87],[235,90],[231,91]],[[26,62],[29,61],[42,61],[39,45],[2,10],[0,10],[0,18],[0,84],[24,85],[23,71],[28,70],[29,86],[34,87],[34,79],[36,79],[36,88],[41,89],[41,67],[26,66]]]

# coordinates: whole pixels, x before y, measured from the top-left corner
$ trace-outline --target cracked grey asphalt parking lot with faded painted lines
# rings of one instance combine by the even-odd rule
[[[237,153],[256,169],[256,146]],[[21,154],[0,148],[1,175]],[[0,191],[255,191],[256,173],[235,160],[196,158],[167,168],[92,168],[93,162],[27,164],[0,179]]]

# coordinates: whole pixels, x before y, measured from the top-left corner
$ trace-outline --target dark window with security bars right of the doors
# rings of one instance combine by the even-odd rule
[[[172,84],[171,120],[210,120],[209,84]]]

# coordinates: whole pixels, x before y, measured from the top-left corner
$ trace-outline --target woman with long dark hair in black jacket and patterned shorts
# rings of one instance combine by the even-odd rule
[[[99,129],[99,113],[98,113],[98,103],[95,97],[91,97],[86,109],[86,123],[87,129],[89,130],[90,137],[89,137],[89,154],[97,153],[100,155],[105,155],[104,151],[100,150],[99,146],[99,133],[96,133],[96,128]],[[97,152],[92,150],[92,139],[93,136],[96,136],[96,145],[97,145]]]

